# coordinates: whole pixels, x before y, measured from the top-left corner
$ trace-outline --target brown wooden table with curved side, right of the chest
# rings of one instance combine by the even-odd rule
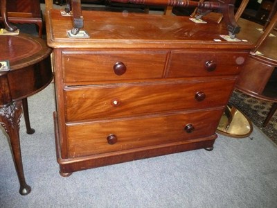
[[[242,26],[242,31],[239,35],[240,38],[256,42],[256,49],[261,55],[249,55],[249,59],[244,64],[242,72],[235,85],[237,89],[250,96],[260,98],[264,101],[277,103],[277,93],[267,93],[267,85],[271,78],[272,73],[277,67],[277,32],[273,30],[276,25],[277,13],[272,17],[268,27],[271,27],[270,33],[275,37],[268,37],[269,31],[260,33],[256,28],[263,28],[260,24],[256,24],[247,19],[240,19],[238,24]],[[260,40],[259,40],[260,39]],[[273,105],[269,116],[264,122],[267,125],[271,116],[276,111],[276,104]]]

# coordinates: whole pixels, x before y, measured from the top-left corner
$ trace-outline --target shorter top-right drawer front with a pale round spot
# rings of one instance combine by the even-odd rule
[[[166,77],[237,75],[247,55],[248,53],[172,51]]]

